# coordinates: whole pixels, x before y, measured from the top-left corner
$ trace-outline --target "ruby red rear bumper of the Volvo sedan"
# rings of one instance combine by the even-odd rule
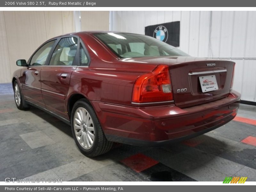
[[[212,131],[237,114],[241,95],[189,108],[175,105],[132,107],[92,101],[110,141],[138,146],[162,146]]]

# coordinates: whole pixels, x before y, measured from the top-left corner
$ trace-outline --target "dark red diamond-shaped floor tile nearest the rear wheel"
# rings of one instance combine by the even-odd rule
[[[138,153],[123,159],[121,163],[125,164],[136,172],[142,172],[143,170],[158,164],[158,161]]]

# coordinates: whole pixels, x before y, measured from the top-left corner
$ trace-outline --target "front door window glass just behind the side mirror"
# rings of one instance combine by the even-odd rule
[[[44,65],[56,40],[44,44],[31,58],[30,65]]]

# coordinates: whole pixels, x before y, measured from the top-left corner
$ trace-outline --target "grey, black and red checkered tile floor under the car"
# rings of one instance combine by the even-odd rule
[[[116,144],[107,154],[87,158],[67,124],[34,107],[18,110],[11,84],[0,84],[0,181],[256,181],[256,106],[241,105],[237,116],[169,147]]]

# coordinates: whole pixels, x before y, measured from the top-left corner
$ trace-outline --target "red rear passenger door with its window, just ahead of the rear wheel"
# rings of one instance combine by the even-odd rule
[[[49,111],[68,118],[65,100],[70,77],[78,63],[78,37],[66,36],[59,40],[47,66],[41,69],[42,96]]]

